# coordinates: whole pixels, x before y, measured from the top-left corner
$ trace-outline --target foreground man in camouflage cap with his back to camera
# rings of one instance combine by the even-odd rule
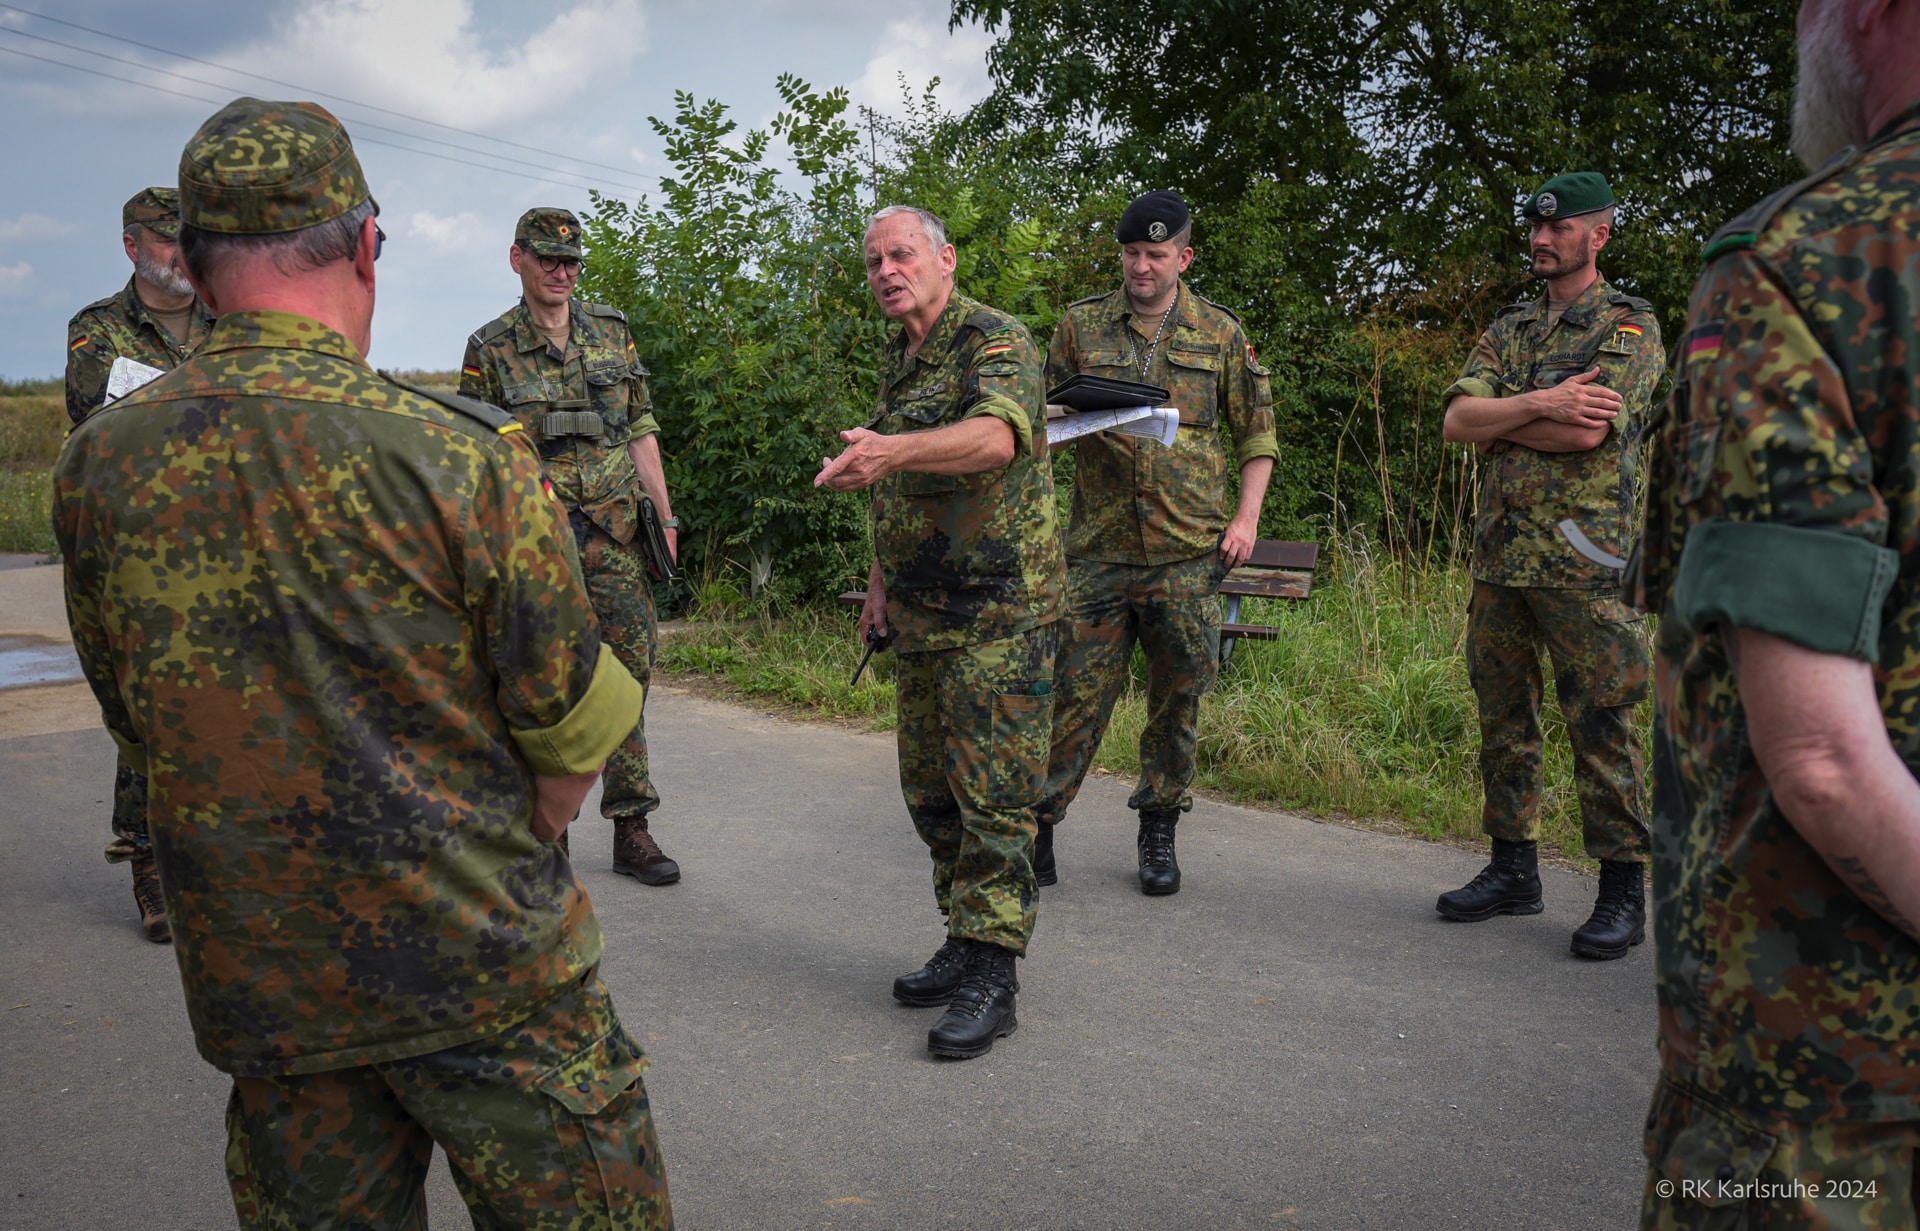
[[[374,373],[338,121],[242,98],[180,157],[219,323],[79,424],[67,615],[154,851],[240,1225],[668,1227],[645,1054],[551,841],[639,712],[513,417]],[[271,305],[271,307],[269,307]]]

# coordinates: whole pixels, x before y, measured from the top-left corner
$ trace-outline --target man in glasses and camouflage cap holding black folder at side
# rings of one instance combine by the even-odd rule
[[[509,261],[524,294],[467,340],[461,394],[509,411],[538,444],[547,482],[574,528],[601,636],[645,686],[659,632],[639,534],[641,495],[662,519],[668,549],[680,522],[660,467],[647,369],[618,307],[574,298],[582,255],[580,219],[566,209],[520,215]],[[659,807],[647,774],[647,726],[639,720],[607,762],[601,816],[612,820],[614,872],[672,885],[680,864],[647,826]]]

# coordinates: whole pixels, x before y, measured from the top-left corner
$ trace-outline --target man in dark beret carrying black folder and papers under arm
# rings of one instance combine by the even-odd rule
[[[1035,876],[1050,885],[1054,824],[1079,795],[1133,647],[1146,651],[1146,730],[1135,841],[1144,893],[1179,893],[1173,830],[1192,809],[1200,697],[1219,670],[1219,591],[1260,534],[1260,503],[1279,457],[1267,369],[1240,319],[1181,278],[1192,263],[1190,215],[1175,192],[1127,205],[1116,238],[1125,286],[1068,307],[1046,348],[1046,384],[1075,373],[1144,380],[1173,392],[1173,447],[1117,432],[1075,446],[1068,528],[1071,620],[1054,701],[1054,747],[1037,818]],[[1235,501],[1225,436],[1240,467]]]

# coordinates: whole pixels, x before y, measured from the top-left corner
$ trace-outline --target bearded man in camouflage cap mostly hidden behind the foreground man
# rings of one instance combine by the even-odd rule
[[[67,419],[73,422],[100,409],[113,359],[125,355],[165,371],[207,340],[213,313],[180,269],[179,230],[180,194],[175,188],[142,188],[121,207],[121,244],[132,261],[132,277],[119,294],[94,300],[67,321]],[[156,945],[171,941],[167,901],[146,833],[146,778],[125,760],[113,768],[108,862],[132,864],[132,901],[140,908],[146,939]]]

